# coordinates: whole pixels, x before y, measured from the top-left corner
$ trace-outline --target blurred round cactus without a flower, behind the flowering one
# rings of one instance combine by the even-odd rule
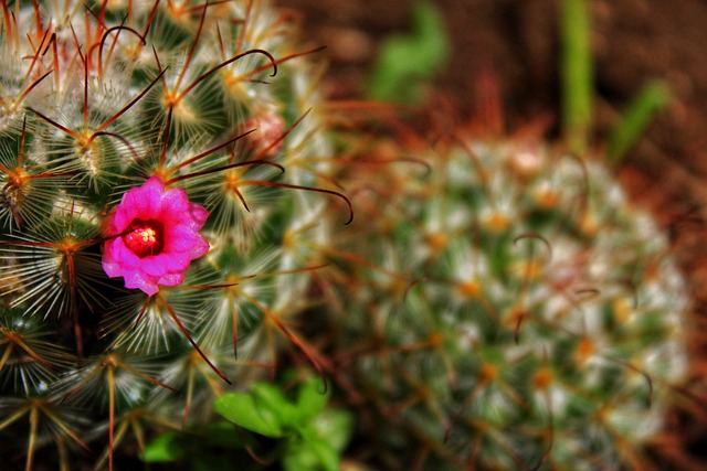
[[[358,224],[336,236],[342,308],[325,338],[360,454],[395,470],[648,468],[687,371],[666,236],[595,157],[450,135],[379,139],[341,180]]]

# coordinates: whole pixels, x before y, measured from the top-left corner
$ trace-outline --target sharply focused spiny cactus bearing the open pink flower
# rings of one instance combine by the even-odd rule
[[[321,257],[303,242],[348,200],[291,15],[24,3],[0,22],[0,448],[112,469],[283,345],[309,355],[292,321]]]

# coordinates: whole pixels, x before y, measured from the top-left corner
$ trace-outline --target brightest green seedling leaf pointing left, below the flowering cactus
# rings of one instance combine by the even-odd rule
[[[284,437],[281,417],[262,397],[256,400],[250,394],[228,393],[218,397],[213,406],[217,413],[247,430],[265,437]]]

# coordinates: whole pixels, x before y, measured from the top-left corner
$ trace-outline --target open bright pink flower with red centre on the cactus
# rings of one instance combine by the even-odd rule
[[[209,212],[190,203],[181,189],[165,190],[159,176],[123,195],[108,221],[108,242],[103,251],[103,269],[110,278],[125,278],[126,288],[147,295],[157,285],[176,286],[184,280],[191,260],[209,251],[199,234]]]

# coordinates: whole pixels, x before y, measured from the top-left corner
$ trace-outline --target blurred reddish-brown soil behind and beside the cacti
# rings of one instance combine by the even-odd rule
[[[300,12],[304,31],[326,45],[327,87],[335,98],[363,96],[365,77],[381,40],[405,32],[411,0],[279,0]],[[618,169],[629,192],[669,231],[675,255],[694,293],[690,340],[693,394],[703,410],[675,414],[662,456],[672,469],[695,464],[707,449],[707,1],[592,0],[595,74],[595,142],[650,79],[668,83],[672,101]],[[453,55],[435,92],[454,104],[460,119],[472,115],[475,85],[492,74],[504,97],[508,130],[539,116],[555,117],[559,132],[557,0],[437,0]],[[687,459],[687,457],[690,459]],[[705,465],[705,464],[703,464]]]

